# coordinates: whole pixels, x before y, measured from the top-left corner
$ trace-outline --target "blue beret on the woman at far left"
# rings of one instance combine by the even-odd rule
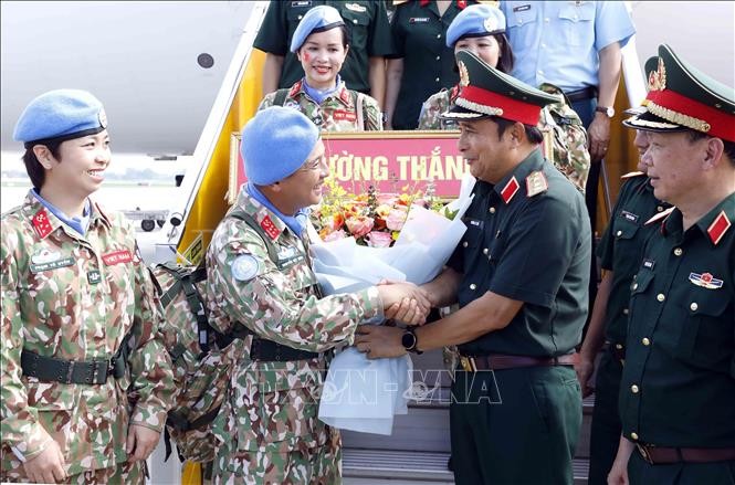
[[[41,140],[69,140],[95,135],[107,127],[99,99],[86,91],[55,89],[33,99],[20,115],[13,139],[25,148]]]

